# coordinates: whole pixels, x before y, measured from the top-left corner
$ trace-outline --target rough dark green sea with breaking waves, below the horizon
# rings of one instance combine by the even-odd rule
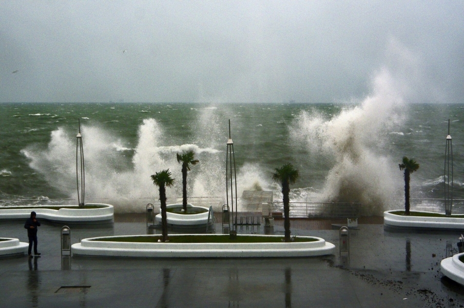
[[[454,197],[464,198],[464,105],[337,104],[0,104],[0,199],[76,198],[75,146],[81,119],[86,202],[144,210],[158,199],[150,175],[164,168],[182,195],[176,153],[194,149],[189,196],[225,196],[228,120],[239,196],[280,196],[272,172],[291,162],[298,201],[362,202],[373,212],[403,194],[403,156],[420,168],[412,195],[443,198],[444,152],[451,121]],[[391,199],[393,198],[393,199]],[[5,202],[4,202],[5,203]]]

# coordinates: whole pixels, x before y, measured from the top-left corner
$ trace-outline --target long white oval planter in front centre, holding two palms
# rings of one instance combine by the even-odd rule
[[[152,237],[153,235],[144,236]],[[176,236],[178,235],[170,235],[169,237]],[[205,236],[222,235],[210,234]],[[260,236],[282,238],[282,236],[273,235]],[[99,241],[101,238],[90,238],[73,244],[71,252],[78,256],[143,258],[288,258],[331,255],[335,252],[335,245],[322,238],[299,238],[314,238],[317,241],[291,243],[134,243]]]

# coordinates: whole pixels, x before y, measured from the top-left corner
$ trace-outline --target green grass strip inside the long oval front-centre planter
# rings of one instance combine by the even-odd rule
[[[157,243],[161,240],[161,235],[154,236],[129,236],[129,237],[111,237],[99,238],[93,241],[106,242],[134,242],[134,243]],[[230,239],[229,235],[181,235],[168,237],[169,243],[281,243],[284,237],[267,237],[267,236],[240,236]],[[315,242],[315,238],[292,237],[294,242]]]

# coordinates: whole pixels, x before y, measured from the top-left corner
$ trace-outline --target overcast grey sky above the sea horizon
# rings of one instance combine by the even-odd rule
[[[464,1],[0,0],[0,54],[0,102],[463,103]]]

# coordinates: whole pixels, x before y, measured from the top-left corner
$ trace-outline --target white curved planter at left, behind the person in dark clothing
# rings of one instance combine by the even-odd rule
[[[56,222],[85,222],[102,223],[114,221],[114,207],[103,203],[86,203],[86,205],[99,205],[101,208],[40,208],[27,206],[24,208],[9,209],[0,207],[0,220],[2,219],[27,219],[31,211],[35,211],[37,219],[45,219]],[[50,206],[53,207],[53,206]]]

